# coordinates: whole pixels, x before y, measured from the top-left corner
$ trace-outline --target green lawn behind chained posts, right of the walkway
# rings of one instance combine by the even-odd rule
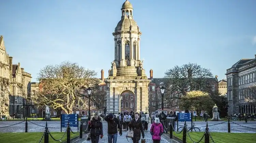
[[[255,143],[256,133],[227,133],[227,132],[211,132],[210,133],[215,143],[234,143],[234,142],[243,142],[243,143]],[[193,141],[198,142],[202,136],[203,132],[189,132],[190,137]],[[173,132],[173,136],[180,138],[182,140],[182,133],[176,134]],[[191,143],[188,134],[186,137],[186,142]],[[212,142],[210,138],[210,143]],[[200,143],[204,143],[204,138]]]

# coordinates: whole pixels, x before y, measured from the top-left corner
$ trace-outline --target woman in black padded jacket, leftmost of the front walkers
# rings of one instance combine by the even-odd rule
[[[88,129],[91,133],[91,143],[99,143],[99,138],[103,138],[102,120],[98,112],[95,112],[94,116],[88,122]]]

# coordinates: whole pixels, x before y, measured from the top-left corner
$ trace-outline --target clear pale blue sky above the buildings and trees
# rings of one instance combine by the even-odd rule
[[[0,35],[13,62],[36,81],[48,64],[69,60],[105,77],[114,59],[114,31],[125,0],[5,0]],[[241,58],[256,54],[255,0],[130,0],[142,32],[147,76],[197,63],[219,79]]]

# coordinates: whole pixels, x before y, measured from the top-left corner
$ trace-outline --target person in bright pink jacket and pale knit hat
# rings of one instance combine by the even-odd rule
[[[163,134],[163,125],[160,123],[159,118],[155,118],[155,122],[151,125],[150,133],[153,143],[160,143]]]

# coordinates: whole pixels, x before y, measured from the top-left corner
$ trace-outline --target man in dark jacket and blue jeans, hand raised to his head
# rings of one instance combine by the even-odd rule
[[[119,129],[119,134],[122,136],[122,127],[116,117],[112,113],[109,113],[104,120],[108,122],[108,142],[116,143],[117,141],[117,128]],[[112,142],[113,141],[113,142]]]

